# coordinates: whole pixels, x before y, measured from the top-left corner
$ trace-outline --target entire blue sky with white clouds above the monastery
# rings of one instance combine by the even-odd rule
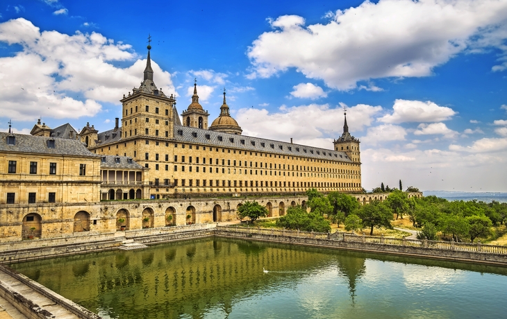
[[[0,130],[111,128],[148,34],[180,113],[332,148],[347,106],[366,189],[507,191],[507,1],[3,1]]]

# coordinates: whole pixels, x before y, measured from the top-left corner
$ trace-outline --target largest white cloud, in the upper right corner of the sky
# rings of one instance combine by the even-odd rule
[[[348,90],[374,78],[429,76],[464,51],[494,46],[505,56],[506,16],[507,3],[495,0],[365,1],[309,26],[303,17],[283,15],[269,19],[274,30],[249,47],[249,78],[294,68]]]

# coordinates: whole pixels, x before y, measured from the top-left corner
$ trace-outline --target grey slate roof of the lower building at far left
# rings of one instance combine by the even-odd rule
[[[7,137],[15,137],[15,144],[8,145]],[[47,141],[54,141],[54,148],[49,148]],[[100,157],[91,153],[81,141],[76,139],[57,139],[22,134],[0,132],[0,152],[4,153],[36,153],[48,155],[74,155],[79,157]]]

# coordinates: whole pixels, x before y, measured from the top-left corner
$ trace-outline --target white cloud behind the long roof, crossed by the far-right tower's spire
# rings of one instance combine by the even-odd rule
[[[349,107],[347,124],[351,134],[370,126],[375,114],[381,112],[382,107],[365,104]],[[323,148],[333,148],[333,138],[342,135],[343,113],[338,107],[328,104],[310,104],[286,107],[282,106],[278,112],[256,108],[242,108],[236,115],[244,135],[257,136],[289,141],[294,143],[315,145]],[[273,123],[276,123],[274,125]]]

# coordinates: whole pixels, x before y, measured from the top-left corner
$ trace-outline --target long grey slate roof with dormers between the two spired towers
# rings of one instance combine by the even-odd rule
[[[219,137],[222,137],[222,141],[219,139]],[[317,148],[300,144],[292,144],[284,141],[274,141],[272,139],[261,139],[258,137],[249,137],[245,135],[213,132],[212,130],[203,130],[189,126],[175,125],[174,140],[178,142],[201,144],[213,147],[236,148],[240,150],[272,153],[277,155],[310,157],[317,160],[334,160],[349,163],[352,162],[346,153],[340,151],[327,150],[326,148]]]

